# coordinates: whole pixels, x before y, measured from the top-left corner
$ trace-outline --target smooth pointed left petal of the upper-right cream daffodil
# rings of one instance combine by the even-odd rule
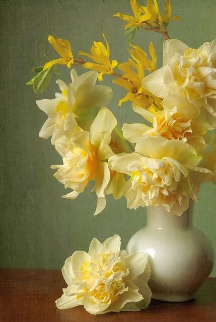
[[[149,74],[143,78],[142,86],[147,89],[150,93],[164,98],[169,94],[169,90],[164,84],[164,72],[166,66],[154,71],[152,74]]]

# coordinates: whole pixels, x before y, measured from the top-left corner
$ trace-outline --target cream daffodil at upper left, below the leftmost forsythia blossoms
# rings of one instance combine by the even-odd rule
[[[61,93],[56,93],[55,99],[36,101],[38,107],[48,116],[39,136],[45,139],[52,136],[51,143],[62,156],[64,148],[61,143],[65,145],[73,131],[80,132],[78,124],[83,127],[83,115],[90,117],[89,113],[94,112],[90,108],[108,105],[112,98],[111,88],[96,85],[98,76],[96,71],[92,70],[78,76],[72,69],[70,75],[72,83],[69,86],[60,79],[56,81]]]

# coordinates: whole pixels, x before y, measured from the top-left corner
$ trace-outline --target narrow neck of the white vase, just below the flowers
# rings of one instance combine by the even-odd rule
[[[191,225],[192,205],[181,215],[168,212],[163,207],[147,207],[147,225],[158,229],[187,228]]]

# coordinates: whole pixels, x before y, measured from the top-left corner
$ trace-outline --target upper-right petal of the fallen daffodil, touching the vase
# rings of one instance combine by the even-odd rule
[[[126,267],[129,268],[128,278],[133,281],[145,271],[148,255],[146,253],[133,253],[125,257],[124,260]]]

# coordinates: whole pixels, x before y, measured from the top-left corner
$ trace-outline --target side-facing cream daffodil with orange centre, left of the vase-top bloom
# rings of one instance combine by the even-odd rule
[[[117,125],[116,118],[107,108],[102,108],[94,119],[90,132],[75,133],[63,157],[63,165],[51,166],[57,169],[54,177],[73,192],[62,196],[75,199],[95,180],[98,197],[95,215],[106,206],[105,189],[110,182],[110,170],[106,160],[113,155],[109,143],[111,133]]]

